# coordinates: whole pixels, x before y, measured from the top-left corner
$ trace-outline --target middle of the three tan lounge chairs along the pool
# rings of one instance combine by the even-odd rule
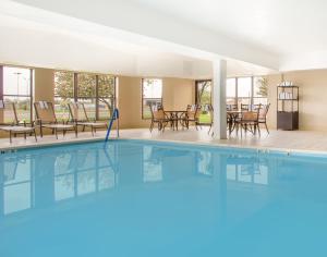
[[[43,128],[49,128],[58,139],[58,132],[62,131],[63,136],[68,131],[74,131],[77,137],[77,127],[66,122],[59,123],[56,118],[56,112],[52,102],[49,101],[37,101],[34,102],[36,123],[39,126],[40,136],[44,136]]]

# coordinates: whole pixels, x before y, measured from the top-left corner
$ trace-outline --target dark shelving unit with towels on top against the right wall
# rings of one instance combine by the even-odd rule
[[[299,130],[299,87],[277,87],[277,130]]]

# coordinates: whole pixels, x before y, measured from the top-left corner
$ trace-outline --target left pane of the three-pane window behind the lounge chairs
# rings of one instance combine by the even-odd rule
[[[55,72],[55,110],[58,120],[69,119],[68,103],[74,101],[74,73]]]

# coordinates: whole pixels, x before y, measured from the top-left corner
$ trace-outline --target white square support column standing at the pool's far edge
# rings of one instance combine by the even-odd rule
[[[226,68],[226,60],[213,62],[214,137],[216,139],[227,138]]]

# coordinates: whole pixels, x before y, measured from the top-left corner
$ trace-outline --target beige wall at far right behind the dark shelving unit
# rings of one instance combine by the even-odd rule
[[[327,70],[299,71],[284,73],[286,81],[292,81],[300,87],[300,130],[327,131]],[[277,85],[281,75],[268,76],[268,98],[271,109],[268,124],[276,128]]]

